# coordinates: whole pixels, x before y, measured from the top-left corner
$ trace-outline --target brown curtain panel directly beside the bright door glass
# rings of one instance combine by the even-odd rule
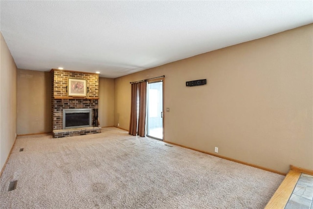
[[[139,92],[138,135],[140,137],[144,137],[146,132],[147,82],[139,83],[138,92]]]

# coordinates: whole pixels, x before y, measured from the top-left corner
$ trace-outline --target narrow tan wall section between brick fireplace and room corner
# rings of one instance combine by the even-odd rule
[[[99,121],[101,127],[114,125],[114,79],[99,77]]]

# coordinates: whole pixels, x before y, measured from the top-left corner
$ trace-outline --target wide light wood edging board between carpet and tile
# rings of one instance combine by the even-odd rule
[[[278,187],[272,198],[269,200],[265,209],[283,209],[296,186],[301,173],[290,170],[282,184]]]

